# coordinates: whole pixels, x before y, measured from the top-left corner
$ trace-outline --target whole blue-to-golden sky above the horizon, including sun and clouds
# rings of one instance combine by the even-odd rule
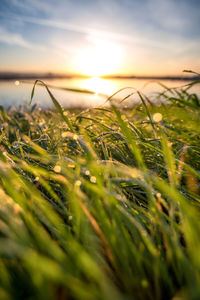
[[[200,0],[0,0],[0,71],[200,71]]]

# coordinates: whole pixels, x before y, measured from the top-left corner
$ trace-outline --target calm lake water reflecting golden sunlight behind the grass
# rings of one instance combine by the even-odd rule
[[[101,106],[105,103],[108,96],[111,96],[115,92],[122,88],[126,88],[120,91],[115,98],[120,101],[123,98],[131,94],[131,96],[124,101],[124,105],[129,103],[134,104],[139,102],[139,96],[136,90],[141,91],[152,101],[156,100],[156,95],[159,92],[164,91],[157,82],[152,80],[142,79],[100,79],[100,78],[89,78],[89,79],[51,79],[44,80],[45,83],[67,88],[81,88],[94,91],[94,95],[75,93],[69,91],[62,91],[57,89],[51,89],[53,95],[57,100],[66,108],[69,107],[95,107]],[[187,84],[188,81],[183,80],[163,80],[161,81],[165,86],[180,87]],[[33,87],[32,82],[19,82],[19,81],[0,81],[0,105],[8,107],[14,105],[18,107],[20,104],[28,103],[30,100],[31,90]],[[191,89],[192,92],[200,95],[200,85],[196,85]],[[105,94],[102,96],[100,94]],[[44,87],[36,86],[33,103],[39,102],[43,108],[51,108],[53,104],[49,95],[47,94]]]

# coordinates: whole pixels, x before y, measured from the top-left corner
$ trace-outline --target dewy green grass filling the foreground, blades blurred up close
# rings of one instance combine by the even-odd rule
[[[55,111],[0,109],[0,299],[199,299],[198,96],[64,111],[43,85]]]

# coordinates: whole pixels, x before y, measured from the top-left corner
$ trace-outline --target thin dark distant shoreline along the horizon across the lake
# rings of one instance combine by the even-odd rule
[[[91,78],[84,75],[54,74],[54,73],[17,73],[17,72],[0,72],[0,81],[7,80],[36,80],[36,79],[73,79],[73,78]],[[199,80],[200,76],[147,76],[147,75],[105,75],[100,76],[102,79],[146,79],[146,80],[182,80],[193,81]]]

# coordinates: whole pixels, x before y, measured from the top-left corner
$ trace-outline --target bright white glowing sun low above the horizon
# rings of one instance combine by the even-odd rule
[[[75,57],[76,71],[91,77],[114,74],[121,63],[119,45],[99,38],[93,38],[91,45],[78,51]]]

